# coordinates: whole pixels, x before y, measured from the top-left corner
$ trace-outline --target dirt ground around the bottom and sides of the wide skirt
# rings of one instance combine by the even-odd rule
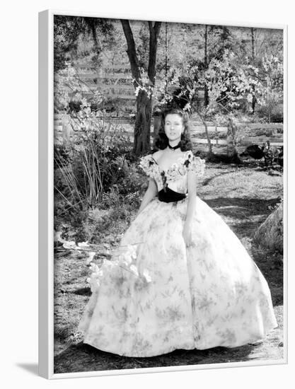
[[[242,166],[207,164],[206,174],[198,182],[198,195],[224,220],[242,240],[243,245],[265,275],[272,292],[279,326],[265,342],[247,344],[235,349],[175,350],[151,358],[129,358],[101,352],[83,344],[76,332],[79,318],[91,294],[86,278],[85,257],[78,252],[56,252],[54,260],[54,373],[103,371],[187,366],[241,361],[282,361],[283,343],[283,258],[279,252],[267,252],[252,244],[260,223],[271,213],[282,197],[282,171],[265,170],[257,163]],[[122,223],[122,233],[127,225]],[[117,245],[108,239],[105,244]],[[102,246],[103,248],[103,246]]]

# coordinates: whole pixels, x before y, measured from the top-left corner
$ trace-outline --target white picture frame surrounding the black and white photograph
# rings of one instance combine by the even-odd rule
[[[53,18],[54,15],[110,16],[94,13],[47,10],[39,13],[39,374],[48,379],[77,378],[89,376],[110,376],[129,373],[150,373],[160,371],[188,371],[207,368],[228,368],[238,366],[260,366],[287,363],[287,166],[284,167],[284,359],[279,361],[249,361],[228,364],[193,366],[171,366],[137,368],[120,371],[89,371],[86,373],[54,373],[53,363],[53,275],[54,275],[54,228],[53,228]],[[120,16],[118,16],[119,18]],[[124,16],[125,17],[125,16]],[[110,18],[113,18],[111,16]],[[141,18],[141,20],[144,20]],[[175,20],[170,20],[175,22]],[[179,20],[178,22],[185,22]],[[191,22],[190,22],[191,23]],[[287,25],[245,23],[245,25],[224,21],[195,21],[219,25],[238,25],[257,28],[279,28],[284,30],[284,151],[287,161]]]

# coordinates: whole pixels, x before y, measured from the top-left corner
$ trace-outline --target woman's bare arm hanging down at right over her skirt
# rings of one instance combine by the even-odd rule
[[[185,224],[183,226],[183,238],[185,245],[189,246],[191,243],[191,227],[192,218],[196,209],[196,195],[197,195],[197,176],[193,170],[187,171],[187,213],[185,217]]]

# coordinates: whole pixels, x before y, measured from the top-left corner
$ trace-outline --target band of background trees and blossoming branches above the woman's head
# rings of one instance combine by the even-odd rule
[[[232,120],[282,121],[282,45],[281,30],[69,16],[54,20],[54,70],[59,74],[72,66],[82,91],[79,96],[68,88],[68,112],[74,107],[71,100],[79,108],[81,98],[99,95],[91,109],[108,105],[119,116],[134,113],[137,156],[150,149],[156,105],[180,105],[202,122],[205,132],[207,122],[228,122],[229,115]],[[93,72],[89,93],[90,81],[81,80],[81,62]],[[112,66],[131,76],[106,79],[108,88],[133,85],[135,101],[122,104],[119,94],[101,88],[99,74]],[[208,148],[212,152],[209,136]]]

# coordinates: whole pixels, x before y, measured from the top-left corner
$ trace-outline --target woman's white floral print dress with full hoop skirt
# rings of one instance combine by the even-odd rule
[[[187,151],[168,170],[140,162],[158,191],[187,192],[187,171],[204,161]],[[231,228],[196,198],[185,247],[187,198],[153,199],[127,229],[112,261],[92,265],[92,295],[79,329],[84,342],[124,356],[175,349],[238,347],[277,327],[267,281]]]

